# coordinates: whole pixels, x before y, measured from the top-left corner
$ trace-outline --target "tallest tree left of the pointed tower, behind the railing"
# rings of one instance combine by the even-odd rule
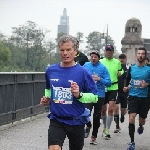
[[[43,58],[46,56],[46,49],[42,42],[49,31],[39,28],[32,21],[12,29],[11,42],[25,50],[26,68],[31,71],[40,71],[43,68]]]

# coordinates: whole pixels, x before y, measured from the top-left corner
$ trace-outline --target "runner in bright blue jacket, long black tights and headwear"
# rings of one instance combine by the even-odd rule
[[[93,132],[91,136],[90,144],[97,144],[96,138],[98,133],[98,128],[100,127],[100,117],[101,117],[101,110],[102,106],[104,104],[105,100],[105,86],[111,85],[110,75],[107,70],[107,68],[99,61],[100,54],[97,50],[92,50],[90,52],[91,61],[86,62],[84,64],[84,67],[89,70],[91,75],[93,76],[93,79],[97,85],[98,89],[98,102],[97,103],[87,103],[85,104],[85,107],[88,108],[90,111],[92,111],[94,107],[93,112]],[[90,129],[92,127],[91,122],[87,123],[85,137],[87,138]]]

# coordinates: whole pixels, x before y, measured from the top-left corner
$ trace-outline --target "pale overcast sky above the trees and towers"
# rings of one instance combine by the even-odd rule
[[[69,16],[70,35],[103,33],[108,24],[108,34],[120,51],[125,24],[135,17],[141,21],[142,38],[150,38],[150,0],[0,0],[0,32],[11,35],[11,27],[30,20],[51,30],[51,38],[56,38],[64,8]]]

